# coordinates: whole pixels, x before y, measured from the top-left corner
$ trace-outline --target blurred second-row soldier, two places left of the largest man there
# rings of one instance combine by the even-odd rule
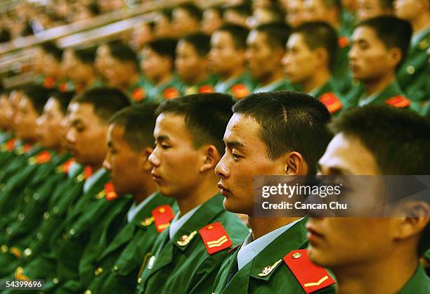
[[[292,90],[281,64],[289,31],[283,23],[269,23],[249,32],[246,56],[249,72],[257,83],[254,93]]]

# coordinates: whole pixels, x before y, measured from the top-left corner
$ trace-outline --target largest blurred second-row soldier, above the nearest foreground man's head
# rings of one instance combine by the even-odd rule
[[[394,16],[370,18],[357,25],[349,60],[351,74],[361,84],[346,96],[349,106],[411,106],[396,80],[396,70],[406,57],[411,34],[410,24]]]

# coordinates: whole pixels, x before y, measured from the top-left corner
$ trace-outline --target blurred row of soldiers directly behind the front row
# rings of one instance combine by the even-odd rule
[[[314,13],[313,22],[292,29],[284,23],[263,23],[251,31],[226,24],[210,36],[195,32],[195,10],[180,6],[173,13],[181,16],[174,24],[183,24],[174,25],[177,35],[184,34],[179,40],[134,41],[137,53],[121,41],[97,50],[64,52],[42,44],[35,70],[39,83],[48,88],[79,93],[105,84],[141,103],[184,94],[220,92],[239,99],[259,91],[294,89],[312,94],[333,115],[368,103],[429,115],[428,1],[397,1],[399,18],[366,18],[351,35],[341,29],[343,23],[330,21],[330,15],[337,15],[323,5],[330,1],[317,2],[314,6],[325,8],[322,15],[327,19]],[[190,22],[194,26],[187,25]]]

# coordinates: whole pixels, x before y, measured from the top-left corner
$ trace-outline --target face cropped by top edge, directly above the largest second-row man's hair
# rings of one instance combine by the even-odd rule
[[[393,15],[393,0],[358,0],[357,19],[359,21],[382,15]]]

